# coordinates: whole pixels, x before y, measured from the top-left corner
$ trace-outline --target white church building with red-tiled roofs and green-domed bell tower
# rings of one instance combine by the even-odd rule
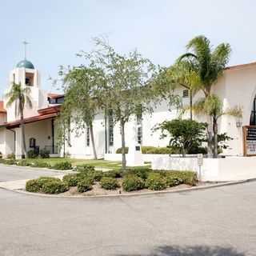
[[[24,111],[26,150],[46,149],[50,154],[57,156],[61,150],[56,143],[54,120],[58,116],[65,96],[43,90],[39,71],[26,59],[18,62],[14,70],[10,71],[6,92],[10,90],[13,82],[29,86],[31,90],[30,98],[33,106],[32,108],[25,106]],[[177,93],[181,95],[184,105],[189,104],[188,91],[181,87]],[[242,108],[242,118],[222,116],[218,123],[219,133],[226,132],[233,138],[229,142],[229,149],[223,153],[242,156],[246,147],[243,126],[256,125],[256,62],[226,68],[222,78],[219,78],[218,83],[214,85],[214,93],[222,99],[224,109],[234,106]],[[198,95],[195,95],[195,98],[197,97]],[[15,114],[14,104],[7,107],[7,101],[8,99],[3,97],[0,102],[0,151],[3,157],[14,153],[16,158],[21,158],[21,122],[19,116]],[[153,132],[152,128],[159,122],[176,117],[177,111],[170,111],[166,102],[162,102],[155,108],[153,114],[145,114],[139,120],[136,118],[130,120],[126,124],[127,146],[134,133],[138,144],[142,146],[167,146],[169,139],[159,139],[160,134]],[[66,145],[65,150],[72,158],[93,158],[89,129],[84,130],[78,137],[72,132],[69,136],[70,143]],[[118,124],[114,125],[111,116],[98,114],[94,120],[94,139],[99,158],[103,158],[105,154],[114,155],[121,147],[120,127]],[[254,143],[251,147],[254,147]],[[253,152],[254,148],[251,151]]]

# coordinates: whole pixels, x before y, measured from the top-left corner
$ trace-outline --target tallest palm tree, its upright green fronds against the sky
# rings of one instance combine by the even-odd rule
[[[210,46],[210,40],[205,36],[193,38],[186,46],[190,52],[183,54],[180,59],[191,63],[191,67],[200,78],[200,90],[205,95],[205,100],[212,94],[212,87],[218,81],[218,78],[223,74],[226,64],[230,58],[230,45],[227,43],[219,44],[214,50]],[[206,111],[207,112],[207,111]],[[214,151],[213,145],[213,130],[214,120],[209,116],[208,132],[208,155],[212,156]]]

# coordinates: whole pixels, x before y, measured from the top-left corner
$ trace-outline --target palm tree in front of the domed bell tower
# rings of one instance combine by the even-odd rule
[[[30,88],[22,88],[21,83],[13,83],[10,91],[6,94],[8,102],[6,106],[11,106],[15,102],[15,115],[20,115],[22,127],[22,158],[26,157],[26,138],[25,138],[25,124],[24,124],[24,106],[27,104],[30,108],[32,102],[30,100]]]

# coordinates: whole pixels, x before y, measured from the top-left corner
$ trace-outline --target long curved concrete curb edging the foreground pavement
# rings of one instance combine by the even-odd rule
[[[150,192],[142,192],[142,193],[130,193],[130,194],[100,194],[100,195],[88,195],[88,196],[82,196],[82,195],[58,195],[58,194],[39,194],[39,193],[31,193],[24,190],[9,190],[6,188],[1,188],[3,190],[12,191],[14,193],[18,194],[26,194],[26,195],[33,195],[43,198],[83,198],[83,199],[90,199],[90,198],[126,198],[126,197],[138,197],[138,196],[146,196],[146,195],[154,195],[154,194],[173,194],[173,193],[182,193],[182,192],[189,192],[189,191],[196,191],[196,190],[208,190],[215,187],[221,187],[221,186],[232,186],[232,185],[238,185],[242,183],[247,182],[255,182],[256,178],[241,180],[241,181],[235,181],[235,182],[223,182],[220,184],[213,184],[209,186],[194,186],[190,188],[185,189],[179,189],[179,190],[164,190],[164,191],[150,191]]]

